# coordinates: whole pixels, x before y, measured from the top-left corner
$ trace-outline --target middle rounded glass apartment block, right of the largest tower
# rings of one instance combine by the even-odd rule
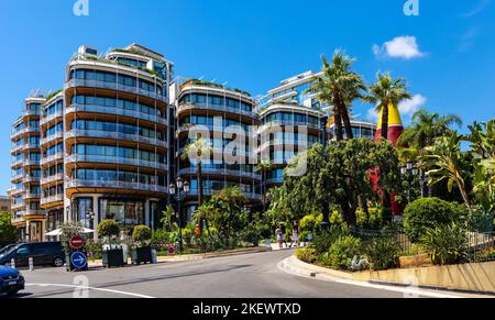
[[[260,117],[249,92],[201,80],[187,80],[175,87],[177,106],[177,176],[190,181],[186,217],[198,205],[196,164],[180,157],[197,135],[209,139],[213,153],[202,164],[204,195],[239,186],[252,205],[261,200],[261,175],[256,173]],[[205,136],[206,135],[206,136]],[[238,147],[229,146],[239,142]]]

